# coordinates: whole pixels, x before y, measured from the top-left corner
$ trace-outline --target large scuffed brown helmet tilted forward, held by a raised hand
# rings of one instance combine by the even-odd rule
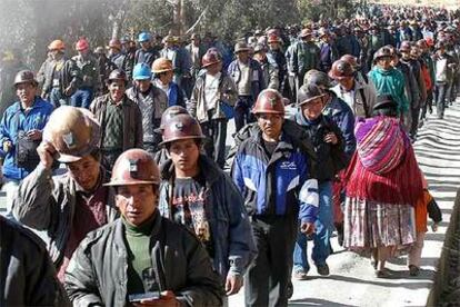
[[[100,125],[84,108],[62,106],[56,109],[43,129],[43,141],[57,150],[56,159],[76,162],[99,148]]]

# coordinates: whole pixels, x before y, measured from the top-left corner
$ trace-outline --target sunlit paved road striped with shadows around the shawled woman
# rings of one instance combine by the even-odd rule
[[[460,105],[460,101],[457,102]],[[442,249],[444,232],[460,182],[460,106],[446,111],[443,120],[430,116],[414,145],[429,189],[442,209],[438,232],[427,234],[420,276],[409,278],[406,258],[392,259],[393,279],[378,279],[369,259],[344,251],[332,239],[336,254],[328,263],[331,275],[321,277],[314,267],[309,280],[294,281],[290,306],[424,306]],[[230,297],[230,306],[243,306],[243,295]]]

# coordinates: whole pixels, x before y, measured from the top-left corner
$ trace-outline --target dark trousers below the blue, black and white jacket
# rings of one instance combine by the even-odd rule
[[[288,306],[297,228],[297,219],[290,216],[270,221],[252,218],[259,252],[244,276],[246,306]]]

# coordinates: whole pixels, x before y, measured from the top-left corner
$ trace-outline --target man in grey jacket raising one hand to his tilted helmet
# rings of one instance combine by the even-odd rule
[[[48,230],[49,252],[58,277],[86,235],[118,216],[110,178],[100,164],[100,126],[90,111],[61,107],[50,117],[37,149],[40,164],[19,186],[14,218],[37,230]],[[54,160],[67,166],[51,176]]]

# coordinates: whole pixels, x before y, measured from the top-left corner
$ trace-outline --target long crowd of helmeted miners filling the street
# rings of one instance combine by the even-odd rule
[[[309,241],[330,274],[334,231],[377,278],[403,254],[417,276],[442,217],[412,143],[460,95],[459,32],[444,10],[376,7],[231,51],[211,33],[79,38],[73,57],[53,40],[2,95],[0,301],[220,306],[244,284],[247,306],[287,306]]]

